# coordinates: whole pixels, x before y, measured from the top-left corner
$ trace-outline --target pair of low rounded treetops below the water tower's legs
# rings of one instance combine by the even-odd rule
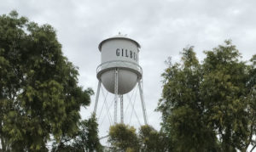
[[[116,124],[109,129],[108,143],[111,151],[125,152],[165,152],[168,151],[166,134],[157,132],[148,125],[136,129],[124,124]]]

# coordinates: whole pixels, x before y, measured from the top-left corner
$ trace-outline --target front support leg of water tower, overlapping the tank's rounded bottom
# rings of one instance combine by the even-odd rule
[[[119,70],[115,69],[114,72],[114,110],[113,110],[113,123],[117,123],[117,102],[119,93]]]

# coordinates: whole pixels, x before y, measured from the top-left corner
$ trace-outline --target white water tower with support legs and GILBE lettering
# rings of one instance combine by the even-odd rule
[[[102,54],[102,64],[96,69],[98,87],[94,113],[96,114],[100,88],[103,84],[109,93],[114,94],[113,122],[117,123],[117,104],[120,102],[120,122],[124,123],[123,95],[131,92],[138,84],[144,123],[148,124],[143,99],[143,69],[138,64],[140,44],[119,33],[100,42],[98,48]]]

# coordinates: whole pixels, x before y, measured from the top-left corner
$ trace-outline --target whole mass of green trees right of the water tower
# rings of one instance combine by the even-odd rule
[[[253,65],[241,62],[230,41],[205,53],[202,64],[193,48],[183,50],[181,65],[168,62],[162,131],[174,151],[246,151],[255,135],[255,55]]]

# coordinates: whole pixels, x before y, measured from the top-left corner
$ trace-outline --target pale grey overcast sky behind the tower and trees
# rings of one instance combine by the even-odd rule
[[[52,25],[64,55],[79,67],[79,84],[92,87],[95,92],[96,67],[101,64],[99,42],[119,31],[139,42],[148,123],[156,129],[160,129],[160,113],[154,109],[160,99],[160,75],[166,68],[167,57],[176,62],[182,49],[192,45],[202,60],[204,50],[232,39],[243,59],[250,59],[256,53],[255,7],[253,0],[0,0],[0,14],[9,14],[15,9],[40,25]],[[108,98],[112,100],[111,96]],[[95,96],[91,99],[90,107],[81,112],[83,118],[93,110]],[[139,102],[138,99],[136,103]],[[143,123],[139,106],[135,107]],[[102,112],[102,117],[107,114]],[[126,115],[130,115],[129,112]],[[129,119],[125,118],[125,122],[129,123]],[[103,136],[109,125],[108,121],[100,123]]]

